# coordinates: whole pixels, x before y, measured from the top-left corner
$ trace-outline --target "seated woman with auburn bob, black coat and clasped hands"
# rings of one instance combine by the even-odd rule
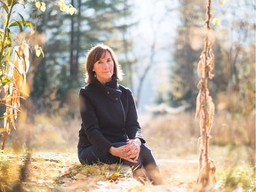
[[[113,50],[96,45],[85,60],[86,86],[81,88],[78,158],[81,164],[123,163],[136,179],[162,185],[150,149],[145,145],[132,92],[117,83],[121,69]]]

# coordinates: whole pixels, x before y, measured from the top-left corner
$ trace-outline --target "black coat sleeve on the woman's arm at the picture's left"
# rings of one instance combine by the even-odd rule
[[[79,99],[80,115],[83,122],[84,132],[88,140],[92,143],[93,146],[99,148],[102,153],[108,154],[112,143],[108,141],[100,132],[100,127],[98,124],[95,108],[92,104],[92,100],[90,100],[90,98],[88,98],[82,91],[79,93]]]

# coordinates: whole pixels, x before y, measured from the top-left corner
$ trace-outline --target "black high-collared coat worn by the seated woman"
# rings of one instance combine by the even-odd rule
[[[107,154],[114,142],[142,137],[132,92],[115,80],[106,85],[95,80],[80,89],[82,118],[78,148],[96,146]]]

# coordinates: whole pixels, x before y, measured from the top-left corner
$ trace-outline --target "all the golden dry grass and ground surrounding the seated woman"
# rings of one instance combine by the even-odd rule
[[[237,118],[236,116],[234,119],[227,116],[217,114],[212,128],[210,157],[215,160],[217,167],[218,183],[215,188],[218,188],[218,191],[222,189],[225,191],[224,188],[236,189],[244,185],[246,191],[252,191],[253,188],[255,189],[252,183],[255,177],[252,170],[253,148],[248,144],[248,140],[253,139],[251,142],[254,142],[255,138],[249,139],[253,134],[253,128],[248,124],[253,124],[253,118],[250,122],[249,117]],[[8,148],[0,158],[0,172],[5,172],[5,168],[8,170],[8,166],[12,167],[8,171],[10,183],[19,180],[20,166],[24,164],[24,157],[21,156],[19,160],[12,154],[24,154],[26,135],[23,133],[30,130],[29,142],[32,147],[32,159],[26,187],[28,189],[83,191],[87,186],[88,191],[96,188],[98,191],[104,191],[104,188],[120,191],[123,186],[123,191],[170,191],[170,189],[191,191],[196,182],[198,169],[199,127],[194,114],[140,115],[140,124],[147,145],[156,156],[156,161],[164,176],[165,186],[163,188],[140,185],[136,180],[132,180],[129,174],[124,176],[124,172],[120,174],[116,182],[110,182],[108,176],[113,173],[110,167],[100,165],[95,169],[95,167],[80,165],[76,156],[80,120],[65,121],[60,116],[50,118],[38,115],[35,118],[35,124],[20,124],[19,132],[15,132],[15,135],[7,140]],[[223,130],[223,124],[226,124],[226,130]],[[243,127],[241,130],[244,134],[237,134],[234,131],[238,125]],[[236,142],[234,141],[235,135]],[[97,172],[89,174],[88,172],[93,169]]]

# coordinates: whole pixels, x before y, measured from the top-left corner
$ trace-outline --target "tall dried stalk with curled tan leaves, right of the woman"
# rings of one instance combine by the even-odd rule
[[[212,121],[214,117],[214,104],[207,88],[208,79],[212,79],[212,69],[214,68],[214,54],[212,52],[213,40],[208,37],[211,19],[211,0],[208,0],[206,9],[207,35],[204,39],[204,51],[201,52],[197,65],[200,81],[197,84],[199,93],[196,97],[196,118],[199,118],[200,133],[199,138],[199,174],[196,180],[196,190],[204,191],[204,188],[216,182],[215,164],[208,157],[209,141],[211,139]]]

